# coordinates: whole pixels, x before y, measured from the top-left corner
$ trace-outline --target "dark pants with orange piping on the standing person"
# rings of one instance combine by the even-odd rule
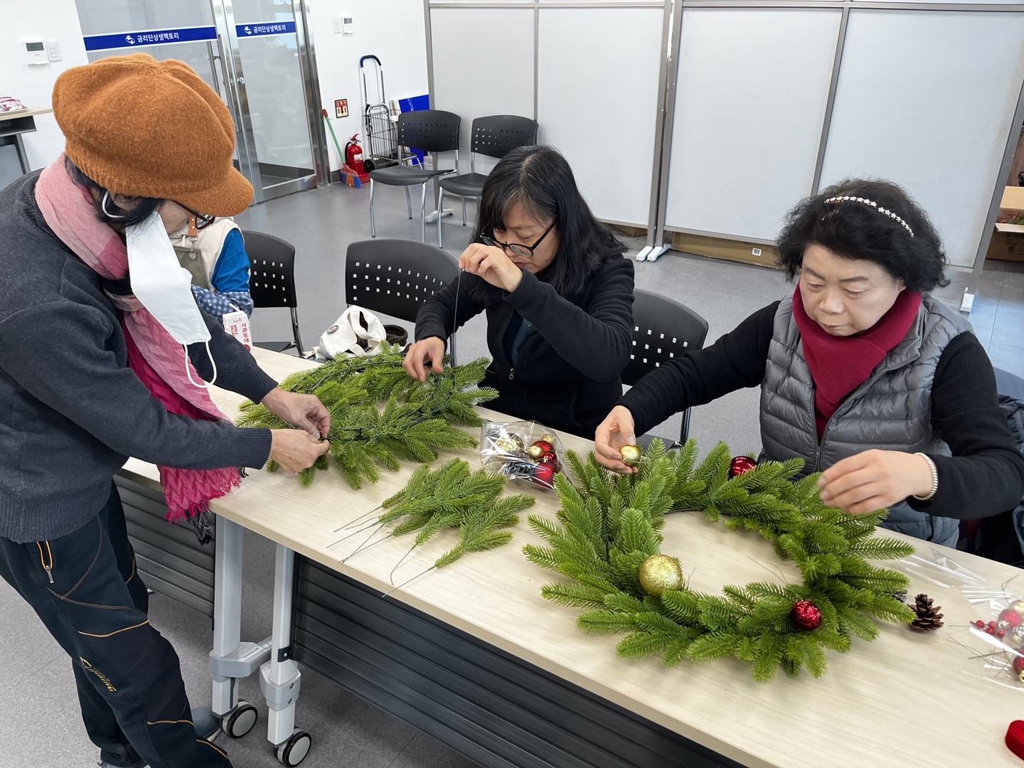
[[[0,538],[0,575],[72,658],[82,719],[101,759],[151,768],[227,768],[196,735],[177,653],[150,625],[124,510],[106,506],[78,530],[17,544]]]

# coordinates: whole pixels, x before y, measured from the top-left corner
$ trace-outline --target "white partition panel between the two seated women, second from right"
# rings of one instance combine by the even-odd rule
[[[839,10],[683,12],[666,225],[773,240],[811,191]]]

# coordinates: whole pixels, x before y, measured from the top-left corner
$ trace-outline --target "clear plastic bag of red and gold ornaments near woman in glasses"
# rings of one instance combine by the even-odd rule
[[[485,421],[480,428],[480,463],[510,480],[553,488],[564,451],[554,430],[534,421]]]

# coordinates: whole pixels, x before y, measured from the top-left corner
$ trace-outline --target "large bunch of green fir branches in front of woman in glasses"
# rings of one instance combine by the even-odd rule
[[[445,365],[443,373],[423,383],[410,378],[402,359],[397,346],[384,343],[375,355],[330,360],[292,374],[281,384],[292,392],[315,394],[330,412],[331,457],[353,488],[361,487],[364,479],[377,482],[378,466],[395,471],[402,460],[432,462],[438,449],[476,445],[458,425],[479,426],[473,407],[498,395],[489,387],[476,386],[483,378],[486,358],[465,366]],[[291,426],[251,400],[241,411],[238,423],[242,427]],[[321,457],[299,473],[299,482],[309,485],[316,471],[327,467],[327,458]],[[270,462],[267,468],[278,467]]]

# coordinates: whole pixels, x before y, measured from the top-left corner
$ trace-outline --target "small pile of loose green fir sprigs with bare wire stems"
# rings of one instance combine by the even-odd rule
[[[418,467],[406,487],[384,501],[381,505],[384,512],[376,522],[360,530],[396,523],[388,536],[416,534],[410,548],[412,552],[439,530],[456,528],[458,543],[427,570],[440,568],[468,552],[495,549],[512,540],[509,528],[519,522],[518,513],[531,507],[535,500],[526,494],[503,496],[504,487],[504,475],[483,469],[471,472],[469,464],[462,459],[452,459],[433,471],[426,466]],[[384,540],[375,544],[380,541]],[[368,546],[374,545],[364,543],[348,557],[359,554]]]

